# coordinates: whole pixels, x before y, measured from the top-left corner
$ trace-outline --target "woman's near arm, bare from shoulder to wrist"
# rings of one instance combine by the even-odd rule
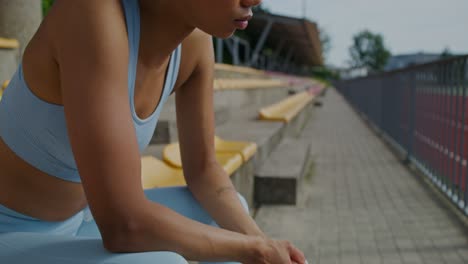
[[[258,239],[203,225],[150,202],[127,89],[128,44],[119,0],[59,1],[54,28],[62,101],[75,160],[114,252],[173,251],[188,259],[252,263]]]

